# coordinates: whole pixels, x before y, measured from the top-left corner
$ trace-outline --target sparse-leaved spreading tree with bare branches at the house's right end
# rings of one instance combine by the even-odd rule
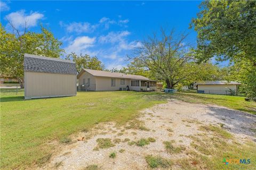
[[[190,79],[198,73],[197,64],[185,43],[187,35],[174,35],[174,31],[154,35],[142,41],[142,46],[129,56],[133,64],[144,71],[150,71],[156,80],[165,81],[167,88]]]

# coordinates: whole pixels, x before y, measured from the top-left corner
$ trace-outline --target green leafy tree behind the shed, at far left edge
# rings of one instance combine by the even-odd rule
[[[25,53],[60,57],[64,52],[60,48],[62,43],[42,26],[39,33],[27,31],[27,28],[21,33],[13,25],[12,28],[13,33],[10,33],[0,24],[1,75],[15,77],[20,83],[23,83],[23,60]]]

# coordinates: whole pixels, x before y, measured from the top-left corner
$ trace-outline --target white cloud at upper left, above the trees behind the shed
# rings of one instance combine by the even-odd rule
[[[26,14],[25,10],[20,10],[6,15],[5,19],[9,20],[15,28],[24,28],[25,24],[27,24],[27,27],[35,27],[38,20],[43,17],[44,15],[38,12]]]

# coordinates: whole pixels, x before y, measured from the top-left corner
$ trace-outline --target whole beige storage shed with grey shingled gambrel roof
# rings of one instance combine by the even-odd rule
[[[76,95],[76,64],[70,60],[25,54],[25,99]]]

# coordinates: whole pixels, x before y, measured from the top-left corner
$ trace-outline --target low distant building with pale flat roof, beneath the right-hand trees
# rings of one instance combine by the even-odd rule
[[[196,83],[196,86],[198,93],[236,95],[239,84],[241,83],[236,81],[205,81],[203,83]]]

